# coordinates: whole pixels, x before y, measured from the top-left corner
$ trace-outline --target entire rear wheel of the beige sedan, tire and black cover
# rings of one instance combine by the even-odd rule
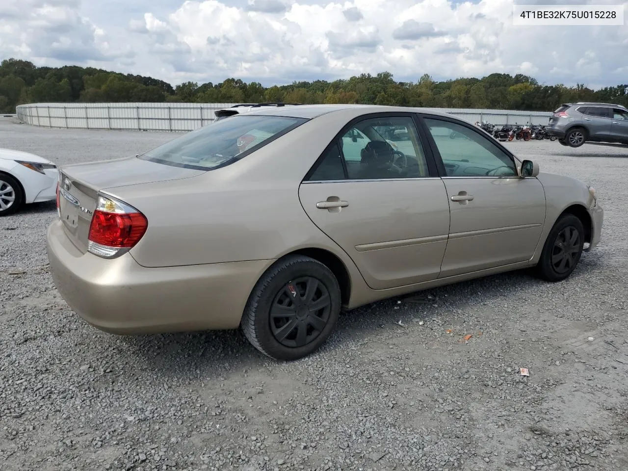
[[[313,311],[315,303],[306,298],[321,307]],[[321,301],[325,298],[327,303]],[[288,256],[257,281],[244,308],[242,332],[264,355],[297,360],[325,343],[338,322],[341,303],[340,285],[327,266],[310,257]],[[273,308],[276,315],[271,317]]]

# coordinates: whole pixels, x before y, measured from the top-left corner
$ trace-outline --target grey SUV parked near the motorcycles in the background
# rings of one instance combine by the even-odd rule
[[[548,133],[563,146],[587,141],[628,144],[628,109],[608,103],[566,103],[549,118]]]

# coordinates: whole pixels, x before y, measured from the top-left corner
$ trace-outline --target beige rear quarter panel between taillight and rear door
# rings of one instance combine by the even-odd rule
[[[165,267],[272,260],[316,247],[333,252],[361,279],[298,197],[303,176],[352,114],[313,119],[241,161],[185,181],[107,189],[148,219],[131,255],[143,266]]]

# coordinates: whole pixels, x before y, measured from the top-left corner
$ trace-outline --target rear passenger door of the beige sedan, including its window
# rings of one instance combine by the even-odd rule
[[[387,127],[408,129],[404,146],[384,138]],[[345,127],[299,188],[310,219],[373,289],[438,278],[449,205],[423,146],[411,114],[367,117]]]

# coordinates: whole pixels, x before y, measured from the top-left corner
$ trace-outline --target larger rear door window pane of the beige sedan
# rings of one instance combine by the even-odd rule
[[[423,145],[409,116],[357,122],[342,136],[340,146],[351,179],[430,176]]]

